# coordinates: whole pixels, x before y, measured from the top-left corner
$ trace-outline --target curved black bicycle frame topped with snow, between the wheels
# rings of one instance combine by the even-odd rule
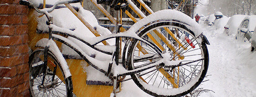
[[[116,46],[116,48],[113,49],[113,51],[115,51],[115,52],[106,52],[106,51],[103,51],[102,49],[96,48],[95,46],[97,44],[101,43],[102,41],[105,41],[105,40],[108,40],[108,39],[111,39],[111,38],[116,38],[116,37],[127,37],[127,38],[132,38],[132,39],[140,40],[141,42],[144,42],[147,45],[149,45],[150,47],[152,47],[153,49],[155,49],[156,51],[159,51],[158,52],[159,55],[161,55],[161,53],[162,53],[159,48],[155,48],[156,46],[154,45],[154,43],[142,39],[141,37],[137,36],[135,34],[135,32],[128,32],[127,31],[127,32],[123,32],[123,33],[111,34],[111,35],[108,35],[108,36],[94,37],[94,40],[95,40],[94,42],[88,42],[88,40],[91,40],[90,38],[85,39],[84,37],[75,36],[74,32],[72,30],[68,30],[68,29],[65,29],[65,28],[60,28],[60,27],[57,27],[54,24],[50,24],[49,28],[52,29],[52,35],[51,35],[52,39],[57,40],[59,42],[62,42],[63,44],[65,44],[68,47],[70,47],[71,49],[74,49],[74,51],[77,52],[92,67],[96,68],[97,70],[101,71],[102,73],[105,73],[106,75],[108,75],[108,68],[107,67],[102,67],[102,64],[104,64],[103,66],[108,66],[108,63],[106,63],[106,62],[100,62],[100,64],[95,63],[94,61],[99,61],[99,60],[96,60],[93,57],[91,57],[90,55],[87,55],[84,51],[82,51],[79,48],[79,46],[77,46],[75,43],[71,42],[66,37],[60,36],[60,35],[57,35],[57,34],[71,36],[71,37],[73,37],[73,38],[75,38],[77,40],[80,40],[81,42],[84,42],[86,45],[88,45],[92,49],[95,49],[95,50],[97,50],[97,51],[99,51],[101,53],[105,53],[105,54],[108,54],[108,55],[113,55],[113,53],[118,54],[115,51],[115,49],[119,49],[119,48]],[[51,33],[49,33],[49,34],[51,34]],[[42,40],[42,41],[46,41],[46,40]],[[44,46],[45,45],[41,45],[41,47],[44,47]],[[144,71],[144,70],[146,70],[148,68],[155,67],[155,66],[157,66],[159,64],[160,64],[159,62],[155,62],[154,64],[151,64],[151,65],[149,65],[148,67],[145,67],[145,68],[137,68],[137,69],[132,70],[132,71],[127,71],[126,70],[126,72],[123,72],[123,73],[115,73],[115,74],[111,73],[110,75],[111,76],[113,76],[113,75],[115,75],[115,76],[123,76],[123,75],[130,75],[130,74],[133,74],[133,73],[139,73],[139,72]],[[118,64],[116,64],[116,65],[118,65]],[[123,69],[125,69],[125,68],[123,68]]]

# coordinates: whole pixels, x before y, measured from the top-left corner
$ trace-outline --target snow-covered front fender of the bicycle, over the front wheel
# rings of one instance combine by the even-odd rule
[[[49,40],[47,38],[42,38],[38,42],[36,42],[35,46],[36,47],[42,47],[42,48],[45,48],[45,47],[49,46],[49,51],[51,51],[54,54],[56,59],[61,64],[61,68],[64,71],[65,79],[67,79],[68,77],[71,76],[71,73],[70,73],[70,70],[67,66],[66,60],[64,59],[63,55],[61,54],[60,49],[58,48],[58,46],[56,45],[56,43],[52,39]]]

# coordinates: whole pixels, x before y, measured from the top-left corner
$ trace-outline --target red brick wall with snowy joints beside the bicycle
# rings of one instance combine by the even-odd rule
[[[0,97],[29,97],[27,6],[0,0]]]

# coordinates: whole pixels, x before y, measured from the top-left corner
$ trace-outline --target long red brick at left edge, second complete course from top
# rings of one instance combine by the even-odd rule
[[[0,24],[20,24],[21,15],[0,15]]]

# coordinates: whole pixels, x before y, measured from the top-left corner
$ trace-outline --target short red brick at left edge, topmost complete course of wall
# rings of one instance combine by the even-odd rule
[[[0,6],[0,14],[15,14],[15,5],[9,4],[9,5],[1,5]]]

